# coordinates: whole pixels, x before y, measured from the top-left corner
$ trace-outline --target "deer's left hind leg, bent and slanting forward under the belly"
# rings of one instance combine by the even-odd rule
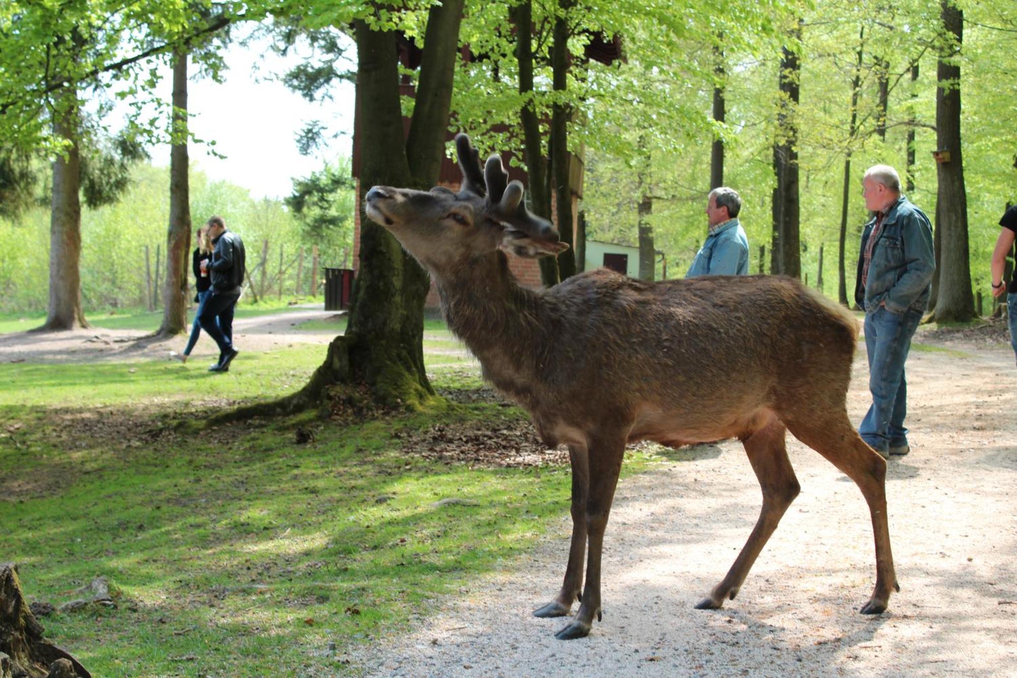
[[[720,583],[713,587],[710,595],[696,606],[699,610],[719,610],[725,598],[734,600],[756,558],[777,528],[787,507],[798,496],[800,488],[798,479],[794,476],[794,469],[791,468],[791,462],[787,458],[784,431],[784,425],[780,419],[771,415],[762,429],[741,441],[763,490],[763,508],[760,510],[760,517],[752,534],[749,535],[749,541],[734,560],[731,569]]]

